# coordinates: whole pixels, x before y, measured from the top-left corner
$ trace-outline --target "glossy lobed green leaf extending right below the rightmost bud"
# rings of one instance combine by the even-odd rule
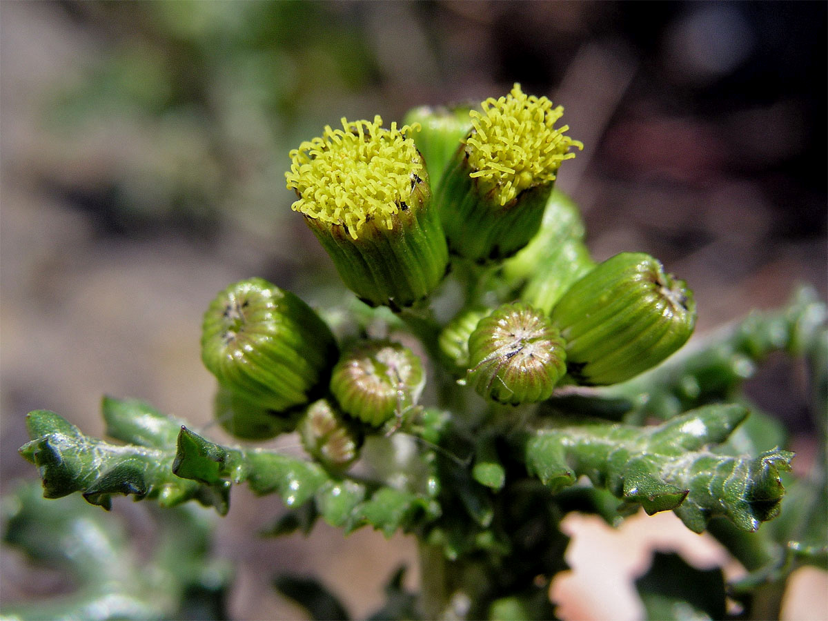
[[[779,513],[785,493],[779,473],[790,468],[793,454],[773,449],[751,458],[706,449],[726,440],[747,414],[738,405],[708,406],[645,428],[549,420],[527,439],[527,468],[553,490],[585,475],[647,513],[674,510],[694,532],[717,515],[755,531]]]

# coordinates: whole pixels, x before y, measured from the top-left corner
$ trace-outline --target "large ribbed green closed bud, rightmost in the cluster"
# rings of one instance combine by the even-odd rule
[[[566,339],[566,363],[577,383],[623,382],[686,343],[696,304],[686,283],[643,253],[621,253],[581,278],[551,319]]]

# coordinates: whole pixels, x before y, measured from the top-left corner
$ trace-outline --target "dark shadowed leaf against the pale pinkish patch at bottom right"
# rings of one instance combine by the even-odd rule
[[[677,554],[656,552],[652,566],[635,582],[652,621],[725,619],[724,575],[720,568],[697,570]]]

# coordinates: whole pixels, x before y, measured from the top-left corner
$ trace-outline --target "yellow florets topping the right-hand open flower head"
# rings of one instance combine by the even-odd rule
[[[552,108],[546,97],[523,94],[520,84],[505,97],[486,99],[481,107],[482,113],[469,113],[474,127],[465,141],[474,169],[470,176],[496,188],[500,205],[532,185],[554,181],[561,162],[575,157],[570,147],[584,148],[564,136],[569,126],[552,127],[564,108]]]

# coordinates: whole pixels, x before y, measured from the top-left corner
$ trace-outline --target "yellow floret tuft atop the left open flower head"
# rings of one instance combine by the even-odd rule
[[[291,151],[291,170],[285,173],[288,190],[299,200],[294,211],[308,218],[348,229],[356,239],[368,220],[392,228],[392,216],[408,200],[424,166],[404,125],[383,128],[379,116],[349,123],[342,129],[325,126],[322,137],[302,142]]]

